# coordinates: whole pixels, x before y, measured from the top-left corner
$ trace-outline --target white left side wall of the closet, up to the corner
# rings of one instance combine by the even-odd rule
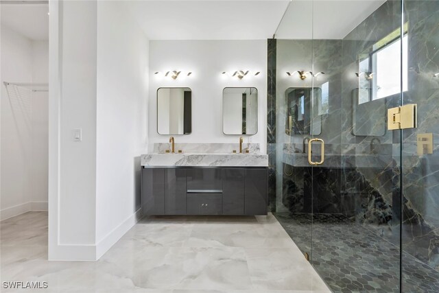
[[[8,96],[3,81],[32,82],[32,41],[1,25],[1,219],[29,211],[32,94]]]

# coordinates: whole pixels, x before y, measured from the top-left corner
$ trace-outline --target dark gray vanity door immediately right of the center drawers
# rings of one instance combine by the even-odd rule
[[[245,169],[222,170],[222,213],[244,215]]]

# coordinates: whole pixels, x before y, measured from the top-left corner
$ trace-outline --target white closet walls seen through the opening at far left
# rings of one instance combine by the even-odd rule
[[[3,81],[47,82],[48,56],[47,41],[1,25],[1,220],[47,210],[48,94],[17,88],[9,97]]]

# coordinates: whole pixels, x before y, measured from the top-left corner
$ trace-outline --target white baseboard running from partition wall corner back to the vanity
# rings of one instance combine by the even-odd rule
[[[112,229],[110,233],[108,233],[104,239],[101,239],[96,245],[96,259],[99,259],[111,248],[111,246],[115,245],[115,243],[121,239],[125,233],[132,228],[142,217],[142,209],[138,209],[135,213],[130,215],[125,221],[123,221],[119,226]]]

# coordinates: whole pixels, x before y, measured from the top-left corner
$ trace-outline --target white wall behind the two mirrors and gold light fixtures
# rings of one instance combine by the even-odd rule
[[[154,75],[155,71],[183,71],[176,80]],[[261,71],[242,80],[222,75],[223,71]],[[185,76],[188,71],[192,75]],[[222,132],[222,91],[229,86],[254,86],[259,92],[257,134],[248,137],[266,152],[267,125],[267,41],[266,40],[152,40],[150,41],[150,90],[148,102],[149,150],[153,143],[167,142],[157,134],[156,91],[164,86],[192,90],[192,133],[176,136],[176,142],[238,143],[236,135]]]

